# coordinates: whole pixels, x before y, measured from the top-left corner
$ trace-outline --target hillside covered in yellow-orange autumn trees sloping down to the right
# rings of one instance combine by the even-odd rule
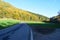
[[[0,1],[0,18],[11,18],[22,21],[44,21],[49,19],[43,15],[18,9],[4,1]]]

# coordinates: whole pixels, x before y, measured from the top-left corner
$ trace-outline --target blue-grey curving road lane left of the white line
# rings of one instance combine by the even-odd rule
[[[26,24],[17,24],[0,30],[0,40],[33,40],[32,30]]]

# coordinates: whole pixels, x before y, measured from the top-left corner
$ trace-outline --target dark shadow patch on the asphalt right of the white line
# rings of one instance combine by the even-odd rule
[[[55,28],[40,28],[40,29],[35,29],[35,31],[43,35],[48,35],[48,34],[52,34],[53,32],[55,32],[56,29]]]

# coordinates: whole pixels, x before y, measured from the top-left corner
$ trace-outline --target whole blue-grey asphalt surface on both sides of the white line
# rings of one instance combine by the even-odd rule
[[[47,30],[43,30],[45,31]],[[42,34],[41,31],[32,30],[27,24],[16,24],[0,30],[0,40],[60,40],[60,28],[49,34]]]

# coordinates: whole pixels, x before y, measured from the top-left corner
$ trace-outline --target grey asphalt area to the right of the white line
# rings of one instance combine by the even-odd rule
[[[60,40],[60,28],[46,31],[34,32],[34,40]]]

